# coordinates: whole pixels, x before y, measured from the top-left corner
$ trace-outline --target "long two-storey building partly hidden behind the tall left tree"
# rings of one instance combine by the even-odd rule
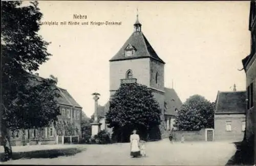
[[[44,78],[36,76],[41,80]],[[12,146],[29,145],[44,145],[57,144],[58,136],[77,136],[78,140],[81,138],[81,111],[82,107],[73,99],[70,93],[63,88],[57,87],[59,98],[56,98],[59,111],[57,125],[50,125],[48,127],[33,128],[26,130],[10,131],[10,138]],[[68,126],[72,126],[68,129]]]

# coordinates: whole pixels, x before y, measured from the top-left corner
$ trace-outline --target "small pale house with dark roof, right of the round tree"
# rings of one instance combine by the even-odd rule
[[[245,108],[246,91],[218,91],[214,115],[214,140],[243,140]]]

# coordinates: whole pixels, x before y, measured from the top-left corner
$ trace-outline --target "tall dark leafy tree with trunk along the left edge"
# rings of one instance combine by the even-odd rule
[[[12,150],[9,130],[39,128],[59,115],[56,80],[31,75],[49,59],[46,42],[38,35],[42,13],[37,2],[2,2],[1,136],[5,159]]]

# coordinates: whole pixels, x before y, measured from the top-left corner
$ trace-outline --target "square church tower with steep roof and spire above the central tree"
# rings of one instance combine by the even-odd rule
[[[138,19],[134,32],[110,59],[110,94],[114,94],[122,83],[146,85],[153,91],[162,114],[164,114],[164,64],[141,31]]]

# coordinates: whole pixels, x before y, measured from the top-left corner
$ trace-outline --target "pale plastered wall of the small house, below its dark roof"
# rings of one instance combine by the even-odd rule
[[[215,114],[214,129],[215,140],[241,141],[244,137],[242,122],[245,114]],[[226,131],[226,122],[231,122],[231,131]]]

